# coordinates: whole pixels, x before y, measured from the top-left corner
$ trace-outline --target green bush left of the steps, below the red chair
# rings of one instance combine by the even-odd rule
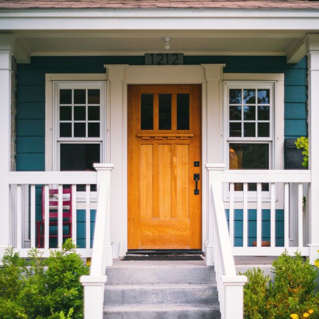
[[[0,268],[1,319],[81,319],[83,287],[88,274],[75,245],[67,239],[46,259],[31,249],[29,261],[7,248]]]

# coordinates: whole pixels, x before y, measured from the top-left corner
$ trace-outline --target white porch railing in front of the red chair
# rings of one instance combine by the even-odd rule
[[[107,164],[101,164],[107,165]],[[11,245],[26,257],[29,248],[36,247],[36,219],[40,219],[42,205],[44,205],[44,238],[43,256],[49,255],[49,189],[58,189],[57,198],[60,199],[57,207],[58,223],[56,227],[57,246],[63,241],[63,206],[62,189],[63,185],[71,185],[72,188],[72,240],[77,243],[78,225],[81,226],[81,247],[77,252],[83,257],[91,257],[91,220],[92,210],[97,209],[97,192],[92,185],[102,182],[99,175],[103,171],[29,171],[9,172],[10,184],[10,219],[11,219]],[[78,185],[81,185],[79,188]],[[45,201],[42,203],[41,190],[44,187]],[[81,221],[77,220],[77,212],[84,213]],[[37,212],[37,214],[36,214]],[[37,215],[37,218],[36,218]]]

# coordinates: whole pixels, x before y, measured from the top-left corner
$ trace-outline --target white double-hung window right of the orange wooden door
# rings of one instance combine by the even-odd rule
[[[225,83],[226,159],[228,169],[273,169],[275,82]],[[242,191],[243,184],[236,183]],[[248,190],[256,191],[249,183]],[[269,191],[267,183],[263,191]]]

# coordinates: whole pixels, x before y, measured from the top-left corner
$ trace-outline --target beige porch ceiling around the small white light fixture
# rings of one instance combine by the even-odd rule
[[[142,55],[183,52],[185,55],[287,55],[304,31],[15,31],[29,55]],[[164,49],[162,37],[172,37]],[[22,61],[21,61],[22,62]]]

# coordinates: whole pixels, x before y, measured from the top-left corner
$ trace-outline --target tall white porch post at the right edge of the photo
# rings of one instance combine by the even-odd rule
[[[309,247],[310,262],[319,258],[319,34],[306,38],[308,52],[308,124],[309,169],[312,179],[309,188]]]

